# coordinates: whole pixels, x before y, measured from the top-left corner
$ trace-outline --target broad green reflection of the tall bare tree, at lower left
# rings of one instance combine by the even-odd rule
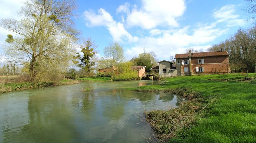
[[[66,98],[31,96],[28,101],[29,123],[14,131],[6,131],[10,142],[67,142],[76,138],[76,126]]]

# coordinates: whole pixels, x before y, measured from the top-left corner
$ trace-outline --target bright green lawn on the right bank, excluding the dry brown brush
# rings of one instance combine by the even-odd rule
[[[252,78],[244,80],[248,77]],[[197,112],[196,122],[176,132],[170,142],[256,142],[255,73],[248,77],[241,74],[174,77],[161,85],[136,90],[168,91],[188,86],[201,93],[205,110]],[[218,100],[208,100],[212,97]]]

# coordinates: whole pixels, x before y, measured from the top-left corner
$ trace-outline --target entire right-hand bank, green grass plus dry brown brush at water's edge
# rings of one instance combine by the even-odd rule
[[[145,113],[163,141],[256,142],[254,73],[175,77],[135,90],[165,90],[187,98],[179,108]]]

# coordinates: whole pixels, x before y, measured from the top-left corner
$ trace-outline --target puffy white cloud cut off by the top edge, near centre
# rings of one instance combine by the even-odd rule
[[[159,25],[178,27],[175,18],[183,15],[186,10],[184,0],[142,0],[142,7],[133,7],[127,15],[127,25],[152,29]]]

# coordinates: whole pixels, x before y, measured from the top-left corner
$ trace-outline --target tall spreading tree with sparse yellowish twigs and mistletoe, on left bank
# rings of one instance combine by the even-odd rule
[[[30,0],[18,12],[19,19],[1,19],[0,26],[15,33],[8,34],[6,54],[15,63],[29,66],[31,82],[42,60],[61,60],[62,53],[72,51],[79,34],[73,28],[75,9],[74,0]]]

